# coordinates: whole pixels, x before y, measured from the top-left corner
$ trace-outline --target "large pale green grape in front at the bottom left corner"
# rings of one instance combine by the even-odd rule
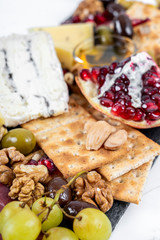
[[[30,209],[22,209],[4,224],[3,240],[35,240],[41,231],[41,222]]]

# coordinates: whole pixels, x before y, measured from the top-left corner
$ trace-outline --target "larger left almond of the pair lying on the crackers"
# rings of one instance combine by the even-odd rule
[[[87,150],[98,150],[109,135],[116,131],[116,128],[105,121],[97,121],[88,129],[86,138]]]

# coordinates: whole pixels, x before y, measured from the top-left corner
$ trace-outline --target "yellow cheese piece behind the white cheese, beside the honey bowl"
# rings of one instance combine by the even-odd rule
[[[86,39],[93,38],[92,23],[64,24],[57,27],[34,28],[51,34],[58,58],[63,68],[71,69],[74,64],[73,50]]]

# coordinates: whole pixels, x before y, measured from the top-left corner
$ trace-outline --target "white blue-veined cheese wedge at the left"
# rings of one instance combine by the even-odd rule
[[[68,109],[68,99],[49,34],[0,38],[0,112],[5,126],[62,114]]]

